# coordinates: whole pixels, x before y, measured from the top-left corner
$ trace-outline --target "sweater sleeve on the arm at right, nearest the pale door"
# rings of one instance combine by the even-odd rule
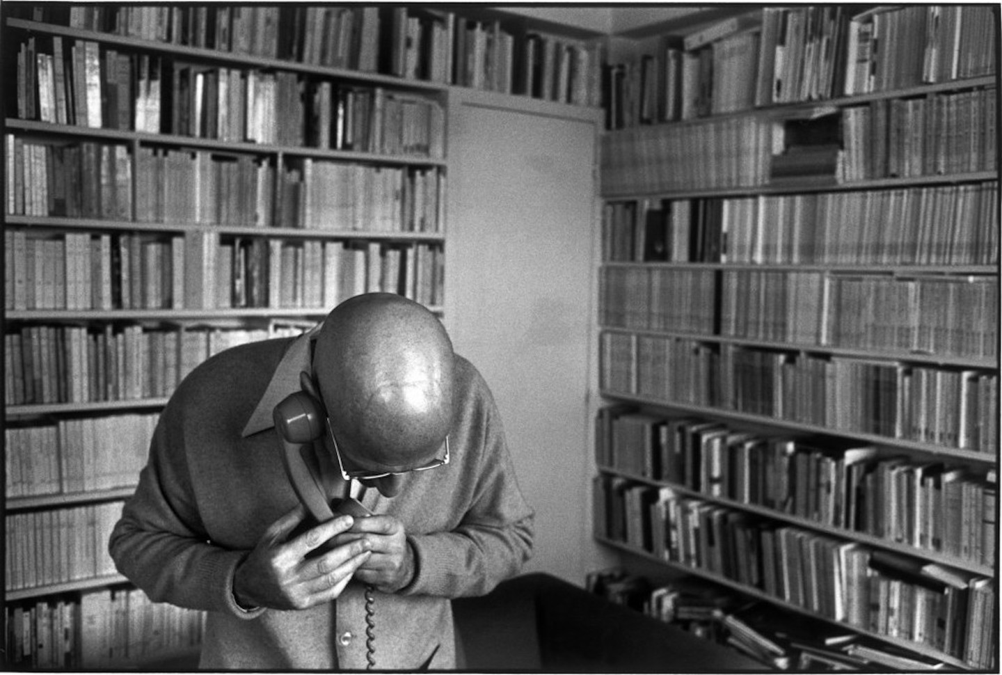
[[[401,593],[449,598],[489,593],[514,576],[532,554],[533,511],[515,477],[501,419],[487,385],[475,375],[474,405],[461,425],[473,446],[472,499],[450,532],[408,537],[417,569]]]

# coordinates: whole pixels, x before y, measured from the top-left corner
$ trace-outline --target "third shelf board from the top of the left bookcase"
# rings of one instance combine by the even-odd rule
[[[103,220],[100,218],[72,218],[68,216],[7,215],[8,225],[27,227],[52,227],[57,229],[128,230],[148,232],[212,231],[239,236],[287,237],[304,239],[363,239],[367,241],[445,241],[442,232],[396,232],[338,229],[310,229],[303,227],[254,227],[216,225],[212,223],[137,222],[133,220]]]

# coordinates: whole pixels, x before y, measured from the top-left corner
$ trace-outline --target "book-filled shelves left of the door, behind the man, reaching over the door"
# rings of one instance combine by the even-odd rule
[[[450,98],[594,108],[598,53],[486,8],[5,10],[9,662],[186,663],[202,618],[104,553],[174,386],[358,292],[446,318]]]

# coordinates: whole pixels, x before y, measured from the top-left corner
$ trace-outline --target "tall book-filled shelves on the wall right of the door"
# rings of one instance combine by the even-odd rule
[[[619,41],[596,541],[995,667],[996,23],[767,7]]]

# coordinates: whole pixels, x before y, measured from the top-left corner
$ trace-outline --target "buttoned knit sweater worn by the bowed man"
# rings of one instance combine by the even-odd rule
[[[364,669],[364,587],[306,610],[244,611],[233,572],[264,531],[297,504],[272,422],[299,389],[310,335],[227,350],[196,368],[160,416],[149,460],[112,532],[119,571],[154,602],[207,610],[200,666]],[[376,592],[376,667],[454,668],[450,598],[482,595],[518,572],[533,513],[515,479],[497,409],[476,369],[456,358],[450,463],[403,478],[392,499],[367,490],[373,513],[396,516],[416,570]]]

